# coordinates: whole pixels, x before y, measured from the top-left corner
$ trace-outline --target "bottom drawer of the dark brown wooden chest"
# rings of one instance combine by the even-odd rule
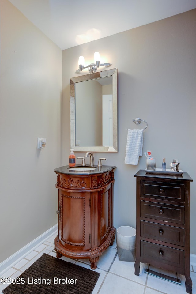
[[[184,268],[184,251],[168,246],[157,245],[141,240],[141,262],[151,263],[153,261],[161,264],[167,264],[178,268]]]

